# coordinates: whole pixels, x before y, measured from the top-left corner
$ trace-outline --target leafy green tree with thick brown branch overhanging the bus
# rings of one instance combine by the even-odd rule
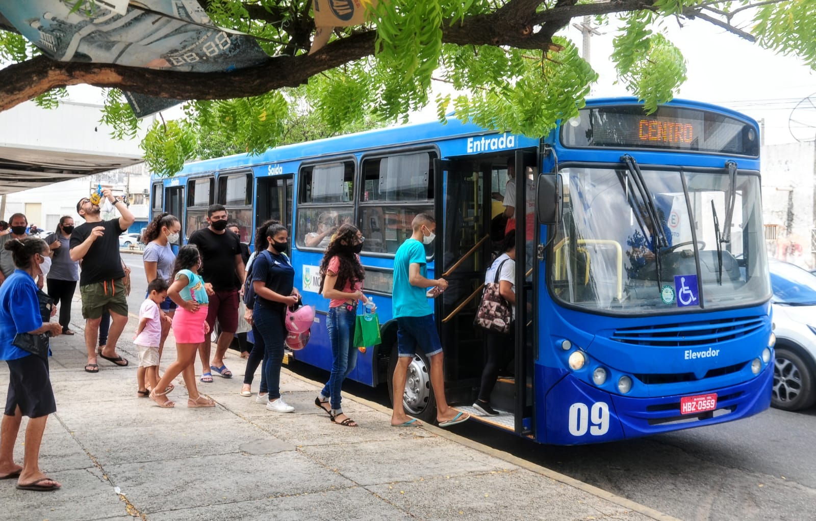
[[[368,23],[335,28],[311,55],[311,0],[199,3],[273,58],[232,73],[56,62],[0,17],[0,63],[11,63],[0,69],[0,110],[28,99],[54,107],[69,85],[106,87],[102,119],[126,137],[138,121],[122,91],[190,99],[186,117],[155,124],[142,144],[153,171],[173,174],[194,157],[313,137],[297,128],[359,130],[428,103],[441,121],[455,110],[489,129],[543,135],[574,115],[596,81],[574,43],[557,36],[587,15],[620,28],[611,51],[619,81],[649,109],[685,81],[685,59],[664,24],[705,20],[816,68],[816,0],[380,0]],[[470,95],[428,99],[433,79]]]

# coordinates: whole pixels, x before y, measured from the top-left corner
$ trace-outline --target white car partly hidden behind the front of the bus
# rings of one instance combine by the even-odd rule
[[[816,275],[770,259],[776,363],[771,404],[795,411],[816,402]]]

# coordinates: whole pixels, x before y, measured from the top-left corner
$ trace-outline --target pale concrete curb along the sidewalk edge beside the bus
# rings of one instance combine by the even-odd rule
[[[297,378],[302,382],[307,382],[313,384],[317,387],[322,387],[323,384],[321,382],[316,382],[310,378],[306,378],[301,376],[297,373],[293,373],[286,367],[282,368],[282,371],[286,371],[288,375],[293,378]],[[355,395],[348,394],[346,391],[342,392],[342,395],[348,400],[353,400],[358,404],[366,405],[366,407],[370,407],[379,411],[380,413],[391,415],[391,409],[384,407],[383,405],[377,404],[370,400],[366,400],[365,398],[360,398]],[[564,483],[565,485],[569,485],[570,487],[578,488],[583,492],[587,492],[588,494],[592,494],[592,496],[600,497],[601,499],[605,499],[606,501],[610,501],[610,503],[614,503],[619,506],[623,506],[628,510],[632,510],[639,514],[643,514],[645,516],[650,517],[651,519],[655,519],[656,521],[682,521],[682,519],[676,518],[669,514],[663,514],[663,512],[659,510],[654,510],[653,508],[645,505],[641,505],[635,501],[629,500],[626,497],[621,497],[618,495],[613,494],[612,492],[607,492],[602,488],[597,488],[589,483],[584,483],[583,481],[579,481],[579,479],[570,478],[568,475],[563,475],[560,472],[557,472],[552,469],[548,469],[545,466],[536,465],[535,463],[531,463],[530,461],[526,461],[521,459],[521,457],[513,456],[510,453],[506,453],[501,451],[497,448],[488,447],[485,444],[480,444],[472,439],[464,438],[463,436],[456,435],[450,430],[441,429],[437,426],[428,425],[427,422],[423,422],[422,426],[415,427],[417,429],[424,429],[428,430],[434,435],[439,436],[440,438],[449,439],[457,444],[464,445],[465,447],[472,448],[474,450],[479,451],[480,453],[485,453],[488,456],[499,458],[500,460],[507,461],[508,463],[512,463],[513,465],[520,466],[523,469],[530,470],[531,472],[535,472],[536,474],[546,476],[550,479],[554,479],[560,483]]]

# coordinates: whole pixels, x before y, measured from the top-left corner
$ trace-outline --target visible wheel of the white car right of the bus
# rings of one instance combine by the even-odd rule
[[[805,360],[784,348],[776,350],[774,388],[771,404],[775,408],[796,411],[814,404],[814,377]]]

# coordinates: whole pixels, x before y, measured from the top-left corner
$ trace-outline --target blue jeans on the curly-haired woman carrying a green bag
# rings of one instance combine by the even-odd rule
[[[344,379],[357,366],[357,347],[354,347],[354,320],[357,306],[351,311],[345,305],[331,307],[326,317],[326,329],[331,341],[331,376],[320,394],[331,398],[331,408],[340,409],[340,388]]]

